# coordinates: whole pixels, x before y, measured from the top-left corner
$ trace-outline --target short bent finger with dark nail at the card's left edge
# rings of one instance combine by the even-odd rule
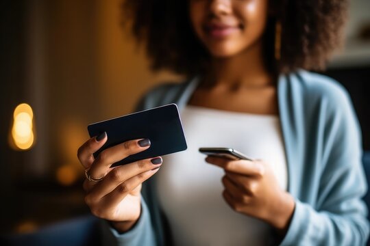
[[[77,150],[77,157],[79,162],[88,169],[94,161],[93,154],[101,148],[107,141],[107,133],[103,132],[98,136],[88,139],[81,147]]]

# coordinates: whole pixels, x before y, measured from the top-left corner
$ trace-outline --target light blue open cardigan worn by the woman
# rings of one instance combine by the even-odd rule
[[[138,110],[172,102],[181,110],[197,83],[193,79],[156,87],[140,101]],[[360,128],[347,92],[328,77],[300,70],[279,78],[277,95],[288,192],[295,197],[293,218],[281,245],[365,245],[369,222],[361,197],[367,184]],[[118,234],[104,226],[106,243],[171,244],[154,182],[156,176],[143,184],[142,211],[134,228]]]

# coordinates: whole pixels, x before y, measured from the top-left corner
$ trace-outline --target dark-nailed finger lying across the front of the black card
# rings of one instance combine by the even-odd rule
[[[117,161],[125,159],[127,156],[147,150],[150,147],[149,139],[135,139],[125,141],[100,152],[90,167],[88,173],[93,178],[106,176],[112,168],[110,166]]]

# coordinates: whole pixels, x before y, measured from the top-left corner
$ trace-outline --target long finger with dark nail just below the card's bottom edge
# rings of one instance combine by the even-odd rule
[[[162,158],[158,156],[153,159],[145,159],[114,167],[101,182],[94,186],[89,195],[92,200],[99,200],[104,195],[112,192],[122,182],[143,172],[160,167],[160,165],[162,165]]]

